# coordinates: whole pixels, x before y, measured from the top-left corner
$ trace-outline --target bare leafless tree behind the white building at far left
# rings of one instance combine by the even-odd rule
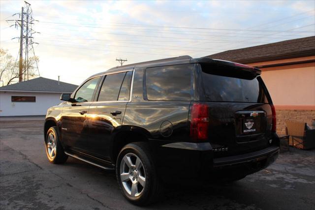
[[[35,69],[33,68],[38,63],[38,57],[29,58],[29,63],[25,64],[25,60],[22,61],[23,66],[23,79],[29,79],[36,77]],[[29,69],[29,70],[27,70]],[[28,71],[28,72],[27,72]],[[3,84],[9,85],[19,78],[19,61],[15,62],[14,58],[8,53],[7,50],[0,49],[0,80]]]

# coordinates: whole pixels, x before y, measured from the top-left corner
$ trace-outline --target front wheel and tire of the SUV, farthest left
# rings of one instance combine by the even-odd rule
[[[57,126],[48,129],[45,140],[45,148],[49,162],[61,164],[68,159],[68,156],[64,154],[63,146],[60,143],[57,129]]]

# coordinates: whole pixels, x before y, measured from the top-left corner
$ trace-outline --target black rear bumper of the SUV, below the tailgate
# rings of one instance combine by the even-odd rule
[[[155,147],[156,148],[156,147]],[[246,176],[272,164],[279,155],[279,146],[229,157],[214,158],[210,143],[168,143],[156,150],[158,171],[167,171],[171,177],[209,180]],[[161,170],[160,170],[161,169]],[[161,178],[164,179],[161,174]]]

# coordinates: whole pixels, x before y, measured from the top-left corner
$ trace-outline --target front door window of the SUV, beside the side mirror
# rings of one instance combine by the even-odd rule
[[[77,90],[74,99],[77,102],[91,102],[99,78],[100,77],[95,77],[84,83],[79,90]]]

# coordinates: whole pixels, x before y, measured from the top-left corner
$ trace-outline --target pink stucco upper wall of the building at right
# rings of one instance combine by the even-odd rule
[[[278,109],[315,110],[315,55],[247,64],[262,70]],[[278,65],[270,67],[270,65]],[[268,67],[269,66],[269,67]]]

